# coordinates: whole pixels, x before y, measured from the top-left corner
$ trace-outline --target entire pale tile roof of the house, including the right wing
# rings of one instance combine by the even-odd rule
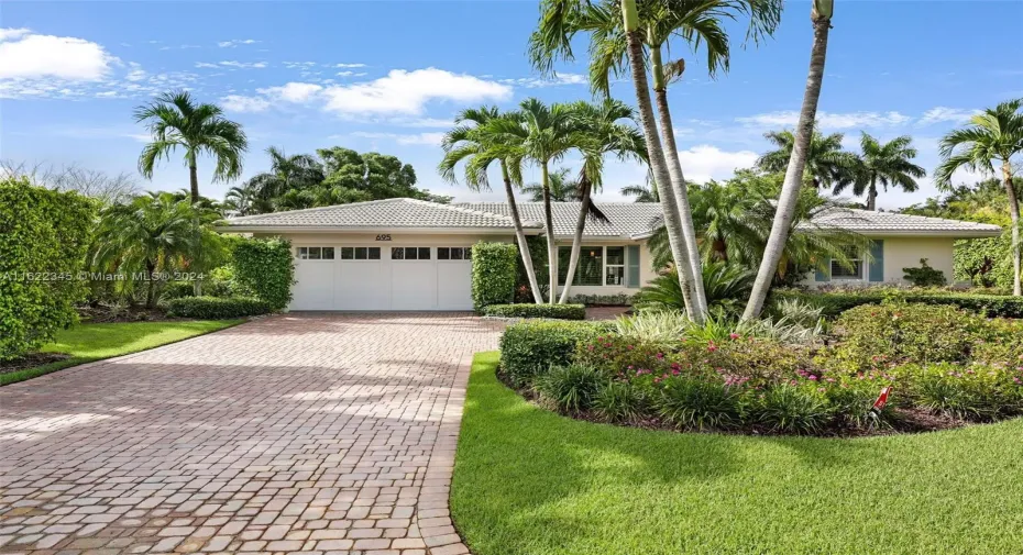
[[[572,236],[579,217],[578,202],[552,202],[554,235]],[[542,229],[543,203],[519,202],[522,224]],[[660,225],[661,207],[646,202],[597,202],[610,223],[590,221],[584,236],[640,238]],[[493,229],[512,230],[505,202],[439,204],[425,200],[386,199],[353,204],[292,210],[233,218],[224,227],[239,229]],[[813,227],[840,227],[865,234],[996,236],[997,225],[868,210],[834,209],[818,214]]]

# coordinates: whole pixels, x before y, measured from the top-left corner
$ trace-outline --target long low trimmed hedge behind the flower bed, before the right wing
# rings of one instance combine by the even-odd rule
[[[936,293],[897,291],[892,289],[865,289],[864,291],[805,292],[777,291],[776,299],[798,299],[821,307],[822,315],[837,318],[843,312],[861,304],[879,304],[886,300],[919,302],[923,304],[952,304],[988,318],[1023,318],[1023,298],[999,295]]]

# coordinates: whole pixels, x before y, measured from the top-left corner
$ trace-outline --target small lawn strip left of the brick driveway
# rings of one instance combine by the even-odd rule
[[[67,353],[70,358],[35,368],[0,374],[0,386],[61,370],[102,358],[128,355],[187,340],[204,333],[223,330],[243,320],[194,320],[179,322],[127,322],[114,324],[80,324],[57,333],[54,343],[41,351]]]

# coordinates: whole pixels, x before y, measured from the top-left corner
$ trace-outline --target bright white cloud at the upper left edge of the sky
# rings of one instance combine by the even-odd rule
[[[120,60],[102,46],[84,38],[3,30],[0,42],[0,79],[57,78],[97,81]]]

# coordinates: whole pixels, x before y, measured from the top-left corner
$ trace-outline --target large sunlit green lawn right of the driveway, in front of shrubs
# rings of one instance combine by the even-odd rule
[[[476,555],[1023,553],[1023,420],[824,440],[592,424],[476,356],[451,510]]]

